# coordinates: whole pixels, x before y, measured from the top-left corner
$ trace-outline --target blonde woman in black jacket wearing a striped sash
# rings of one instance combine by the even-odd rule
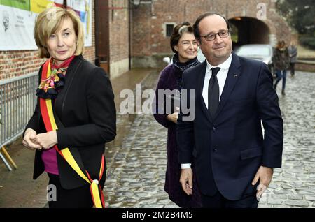
[[[83,58],[83,26],[72,10],[43,11],[34,36],[40,57],[50,58],[23,140],[36,149],[34,179],[48,172],[49,207],[104,207],[104,144],[116,137],[111,82]]]

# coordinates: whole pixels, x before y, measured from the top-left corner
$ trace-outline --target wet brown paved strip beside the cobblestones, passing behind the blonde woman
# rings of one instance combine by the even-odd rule
[[[155,69],[133,69],[111,80],[115,94],[116,109],[119,108],[119,93],[122,89],[134,89],[137,83],[141,83],[146,76],[156,73]],[[131,115],[118,115],[116,139],[107,144],[107,147],[121,144],[124,135],[129,131],[134,117]],[[9,172],[0,161],[0,208],[6,207],[47,207],[46,187],[48,176],[41,175],[33,180],[34,151],[29,151],[22,146],[22,138],[19,138],[6,147],[6,150],[18,165],[18,170]]]

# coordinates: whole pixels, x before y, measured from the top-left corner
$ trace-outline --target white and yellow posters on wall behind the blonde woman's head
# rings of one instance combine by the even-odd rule
[[[63,0],[52,2],[62,4]],[[50,4],[50,0],[0,0],[0,50],[37,50],[36,16]],[[85,46],[92,46],[92,0],[68,0],[67,5],[83,22]]]

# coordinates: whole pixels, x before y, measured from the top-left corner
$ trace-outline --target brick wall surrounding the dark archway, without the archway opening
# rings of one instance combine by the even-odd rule
[[[269,43],[276,40],[290,41],[290,29],[285,20],[275,10],[273,0],[152,0],[141,1],[138,8],[132,10],[132,67],[165,66],[162,57],[173,54],[169,47],[169,37],[165,36],[165,23],[194,23],[196,18],[207,11],[220,13],[232,19],[251,17],[257,19],[259,4],[266,6],[266,20]],[[259,24],[256,22],[255,24]],[[255,27],[253,27],[255,28]],[[269,29],[269,30],[268,30]]]

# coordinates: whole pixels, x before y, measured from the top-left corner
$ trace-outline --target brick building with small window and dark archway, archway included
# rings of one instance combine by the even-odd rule
[[[132,66],[162,66],[162,58],[172,55],[172,27],[186,21],[193,24],[206,12],[229,20],[238,45],[290,43],[291,30],[276,13],[276,0],[141,0],[132,10]]]

